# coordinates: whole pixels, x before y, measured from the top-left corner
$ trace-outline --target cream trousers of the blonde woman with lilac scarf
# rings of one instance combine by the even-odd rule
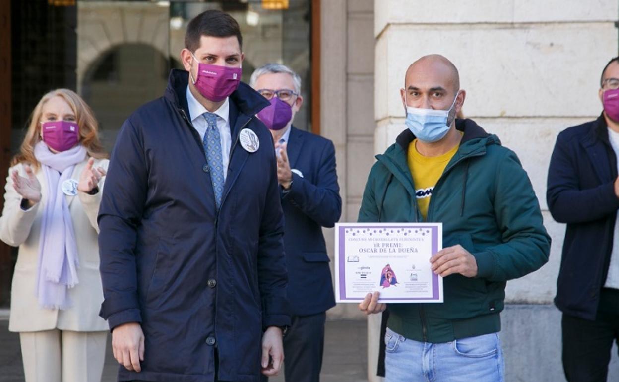
[[[25,382],[101,382],[108,332],[20,332]]]

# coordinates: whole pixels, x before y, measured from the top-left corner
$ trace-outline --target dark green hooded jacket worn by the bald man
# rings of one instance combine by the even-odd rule
[[[390,303],[388,326],[415,341],[449,342],[501,330],[507,280],[548,261],[550,237],[529,176],[513,151],[471,119],[457,119],[460,147],[436,182],[427,222],[443,223],[443,248],[461,245],[477,260],[477,277],[443,279],[443,303]],[[422,222],[402,132],[377,155],[359,222]]]

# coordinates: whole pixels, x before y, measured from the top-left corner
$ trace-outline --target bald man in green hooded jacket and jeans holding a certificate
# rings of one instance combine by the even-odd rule
[[[400,95],[408,129],[377,156],[358,221],[442,224],[443,249],[429,261],[444,294],[438,303],[388,299],[386,381],[503,381],[506,281],[539,269],[550,251],[539,203],[516,154],[474,121],[455,118],[466,93],[448,59],[415,61]],[[401,243],[393,245],[403,252]],[[377,285],[360,309],[384,311],[381,293],[396,288]]]

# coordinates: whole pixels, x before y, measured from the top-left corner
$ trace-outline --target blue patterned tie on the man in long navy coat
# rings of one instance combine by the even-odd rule
[[[217,115],[208,111],[202,115],[207,123],[202,145],[204,145],[204,152],[206,152],[206,160],[209,162],[210,180],[213,182],[215,203],[217,209],[219,209],[223,195],[222,141],[220,141],[219,130],[217,129]]]

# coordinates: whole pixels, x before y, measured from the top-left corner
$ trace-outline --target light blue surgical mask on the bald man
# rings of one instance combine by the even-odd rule
[[[454,102],[448,110],[420,109],[406,106],[406,126],[422,142],[432,143],[440,141],[449,131],[453,121],[450,118],[451,111],[456,105],[456,93]]]

